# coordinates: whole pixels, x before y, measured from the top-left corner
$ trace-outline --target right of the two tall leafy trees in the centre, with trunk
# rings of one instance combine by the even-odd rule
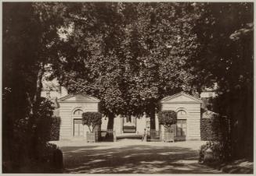
[[[145,9],[138,10],[135,23],[142,52],[136,59],[140,65],[138,79],[133,79],[128,94],[137,96],[131,104],[139,104],[139,109],[150,115],[154,127],[160,98],[192,90],[189,85],[193,76],[183,66],[197,51],[192,29],[199,13],[191,3],[142,3],[139,9]]]

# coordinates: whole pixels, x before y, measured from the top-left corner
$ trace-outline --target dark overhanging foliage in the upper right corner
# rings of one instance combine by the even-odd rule
[[[243,83],[246,78],[251,78],[250,35],[253,32],[248,30],[247,35],[240,35],[237,40],[233,40],[233,35],[253,21],[253,6],[252,3],[203,3],[198,6],[203,12],[194,30],[200,41],[200,50],[198,57],[188,63],[192,62],[190,66],[194,67],[194,71],[201,73],[198,76],[201,84],[212,86],[212,83],[218,83],[224,93],[232,87],[230,83]],[[245,45],[242,46],[242,43]],[[243,48],[246,46],[248,53],[244,55]],[[243,67],[237,67],[241,63]]]

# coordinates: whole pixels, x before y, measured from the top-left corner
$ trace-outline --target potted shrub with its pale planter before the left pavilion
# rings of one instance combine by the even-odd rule
[[[85,112],[82,114],[82,124],[87,125],[89,132],[86,132],[87,142],[96,142],[99,132],[95,132],[96,126],[101,125],[103,115],[99,112]]]

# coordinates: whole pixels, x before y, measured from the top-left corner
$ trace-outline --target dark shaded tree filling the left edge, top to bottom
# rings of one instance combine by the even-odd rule
[[[3,161],[4,170],[19,171],[45,145],[42,125],[52,115],[41,99],[45,65],[57,57],[60,6],[3,3]],[[47,126],[45,127],[47,132]],[[22,151],[22,152],[20,152]],[[8,168],[7,168],[8,167]]]

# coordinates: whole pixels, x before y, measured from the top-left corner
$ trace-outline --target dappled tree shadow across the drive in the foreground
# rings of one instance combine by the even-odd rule
[[[65,146],[66,173],[219,174],[197,163],[198,150],[178,146]]]

